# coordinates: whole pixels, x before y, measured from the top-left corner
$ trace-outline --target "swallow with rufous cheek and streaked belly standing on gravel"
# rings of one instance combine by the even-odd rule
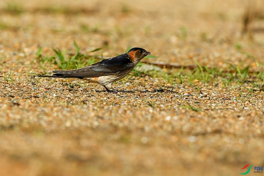
[[[141,59],[151,54],[143,48],[134,47],[127,53],[102,60],[95,64],[74,69],[74,70],[54,70],[51,76],[34,76],[50,78],[78,78],[92,83],[102,85],[107,92],[117,91],[112,87],[116,82],[128,75]]]

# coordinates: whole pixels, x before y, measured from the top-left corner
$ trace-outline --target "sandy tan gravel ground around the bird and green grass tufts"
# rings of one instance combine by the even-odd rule
[[[263,81],[253,73],[228,86],[130,74],[114,84],[117,94],[32,77],[58,69],[36,58],[40,47],[66,56],[73,41],[82,53],[103,47],[94,54],[106,57],[138,46],[159,56],[153,61],[263,72],[264,35],[241,37],[241,1],[21,5],[20,14],[0,9],[0,175],[237,175],[264,166]]]

